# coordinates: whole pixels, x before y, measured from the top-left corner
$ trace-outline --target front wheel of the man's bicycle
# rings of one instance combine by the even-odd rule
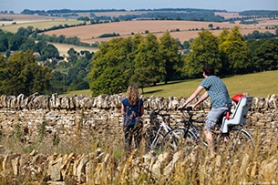
[[[198,145],[198,138],[191,130],[185,128],[174,128],[168,132],[163,139],[163,150],[186,149],[190,151]]]

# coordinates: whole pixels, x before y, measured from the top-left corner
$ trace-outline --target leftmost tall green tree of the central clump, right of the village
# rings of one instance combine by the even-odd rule
[[[88,74],[92,96],[116,94],[129,86],[133,73],[132,38],[114,38],[99,46]]]

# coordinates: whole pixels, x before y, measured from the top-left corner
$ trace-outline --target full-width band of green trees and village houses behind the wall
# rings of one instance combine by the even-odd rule
[[[90,88],[98,96],[123,92],[130,83],[143,90],[160,82],[201,77],[204,63],[213,65],[220,77],[278,67],[278,40],[246,40],[238,26],[222,30],[220,36],[202,30],[183,46],[170,32],[161,37],[152,33],[115,37],[100,45],[97,53],[70,48],[67,61],[55,46],[23,33],[0,30],[2,94],[61,94]]]

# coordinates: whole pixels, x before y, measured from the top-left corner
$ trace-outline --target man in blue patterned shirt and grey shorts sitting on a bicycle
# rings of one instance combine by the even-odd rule
[[[231,109],[232,100],[229,96],[226,85],[219,77],[214,75],[214,68],[211,67],[211,65],[205,64],[202,67],[202,76],[204,79],[201,81],[200,86],[197,87],[197,89],[191,94],[190,98],[188,98],[178,109],[185,108],[185,106],[187,106],[194,98],[196,98],[203,89],[206,90],[201,98],[195,104],[191,105],[191,107],[195,108],[201,103],[201,101],[209,97],[211,98],[212,107],[205,121],[204,133],[211,151],[211,155],[214,156],[215,149],[211,130],[214,128],[223,112]]]

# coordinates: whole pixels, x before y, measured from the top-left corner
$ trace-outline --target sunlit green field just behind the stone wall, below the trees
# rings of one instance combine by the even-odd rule
[[[267,71],[249,75],[233,76],[222,78],[228,87],[230,96],[238,93],[248,93],[252,97],[267,97],[268,95],[278,94],[278,71]],[[201,79],[184,80],[172,82],[167,85],[144,88],[144,96],[150,97],[189,97],[190,94],[199,86]],[[140,91],[141,92],[141,91]],[[87,95],[90,90],[68,92],[66,96]]]

